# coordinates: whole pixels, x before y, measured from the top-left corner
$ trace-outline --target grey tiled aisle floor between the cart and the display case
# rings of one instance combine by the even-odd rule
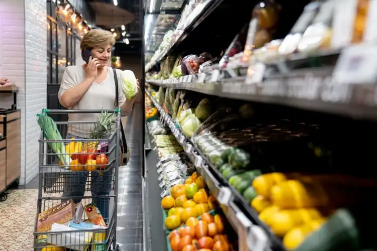
[[[141,163],[139,146],[141,144],[140,104],[135,104],[132,114],[127,118],[126,138],[131,148],[131,160],[119,169],[118,227],[117,238],[121,250],[140,251],[143,242],[143,212],[141,190]]]

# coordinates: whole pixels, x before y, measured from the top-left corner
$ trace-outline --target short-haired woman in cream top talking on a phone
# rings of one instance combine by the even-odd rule
[[[68,66],[65,68],[59,89],[60,104],[69,109],[93,110],[113,109],[116,107],[116,90],[114,73],[108,67],[111,58],[111,47],[115,44],[112,33],[104,30],[91,30],[81,40],[80,49],[89,50],[90,56],[87,64]],[[121,70],[117,71],[119,106],[122,116],[128,115],[134,104],[135,98],[126,100],[121,87]],[[99,113],[71,113],[68,121],[96,121]],[[89,138],[90,125],[71,123],[68,126],[67,139]],[[113,172],[108,171],[100,175],[91,173],[92,196],[105,196],[110,194]],[[69,173],[64,176],[64,192],[62,197],[72,198],[75,203],[81,201],[85,192],[87,172]],[[109,219],[109,198],[93,198],[102,216]]]

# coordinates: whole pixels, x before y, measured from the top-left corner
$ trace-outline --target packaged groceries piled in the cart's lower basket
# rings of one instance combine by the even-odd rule
[[[83,206],[69,199],[38,214],[36,230],[41,234],[37,246],[47,250],[53,246],[61,248],[56,250],[105,250],[106,229],[105,220],[94,203]]]

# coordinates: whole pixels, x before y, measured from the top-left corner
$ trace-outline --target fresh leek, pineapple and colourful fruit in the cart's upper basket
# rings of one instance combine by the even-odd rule
[[[111,162],[115,161],[109,161],[109,151],[115,151],[115,148],[109,148],[109,138],[116,128],[114,126],[116,117],[115,113],[102,112],[97,121],[88,125],[89,139],[72,137],[71,142],[66,145],[60,135],[62,128],[58,130],[55,121],[46,112],[38,114],[38,123],[44,138],[56,141],[49,142],[48,145],[59,158],[56,164],[60,167],[70,171],[104,171]],[[61,126],[60,122],[58,123]]]

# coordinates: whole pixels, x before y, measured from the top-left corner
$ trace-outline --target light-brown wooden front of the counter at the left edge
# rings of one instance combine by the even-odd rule
[[[21,111],[0,112],[0,191],[21,175]]]

